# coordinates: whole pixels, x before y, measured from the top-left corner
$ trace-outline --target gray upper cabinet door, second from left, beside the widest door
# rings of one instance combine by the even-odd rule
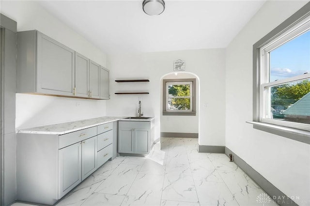
[[[75,68],[75,95],[88,97],[89,59],[76,52]]]

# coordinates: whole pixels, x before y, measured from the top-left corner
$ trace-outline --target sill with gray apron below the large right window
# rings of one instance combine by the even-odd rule
[[[291,127],[283,127],[262,122],[247,121],[252,124],[253,128],[279,135],[288,139],[292,139],[301,143],[310,144],[310,131],[296,129]]]

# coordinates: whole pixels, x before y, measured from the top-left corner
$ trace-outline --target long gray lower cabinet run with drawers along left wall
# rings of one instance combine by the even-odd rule
[[[17,133],[17,200],[54,205],[112,158],[113,124],[63,135]]]

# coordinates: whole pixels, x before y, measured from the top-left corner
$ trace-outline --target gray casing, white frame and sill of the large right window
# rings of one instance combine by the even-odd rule
[[[276,134],[285,138],[289,138],[298,142],[307,143],[310,144],[310,131],[303,128],[297,128],[295,125],[290,125],[291,122],[287,125],[283,125],[282,123],[284,121],[280,120],[272,120],[272,122],[269,122],[270,119],[261,118],[262,117],[262,94],[263,92],[263,86],[271,86],[271,85],[279,85],[283,82],[289,81],[295,81],[296,79],[307,79],[309,78],[309,74],[294,77],[292,79],[285,79],[285,80],[279,80],[276,82],[264,82],[263,80],[268,79],[269,77],[262,76],[260,66],[263,64],[263,62],[260,61],[260,49],[261,48],[267,48],[268,46],[271,46],[270,42],[274,42],[275,39],[279,38],[279,36],[283,36],[285,32],[291,32],[293,27],[296,27],[298,24],[302,24],[302,21],[306,21],[305,19],[310,16],[310,2],[305,4],[301,9],[299,9],[295,14],[290,16],[288,19],[286,19],[283,23],[281,23],[278,27],[276,27],[273,31],[269,32],[267,35],[265,35],[262,39],[260,39],[258,42],[256,42],[253,45],[253,121],[247,121],[247,123],[253,124],[253,128],[259,129],[268,133]],[[298,33],[298,31],[297,31]],[[300,33],[300,32],[299,32]],[[296,34],[298,35],[298,34]],[[294,35],[291,36],[291,38]],[[282,39],[282,41],[289,41],[288,39]],[[278,41],[278,44],[281,45],[283,42]],[[269,45],[268,45],[269,44]],[[279,46],[278,45],[278,46]],[[276,45],[274,45],[276,46]],[[269,79],[268,79],[269,80]],[[266,83],[263,86],[262,83]],[[278,124],[278,123],[281,124]],[[302,124],[302,123],[296,123],[299,126],[306,126],[309,128],[309,124]],[[281,125],[281,126],[279,126]]]

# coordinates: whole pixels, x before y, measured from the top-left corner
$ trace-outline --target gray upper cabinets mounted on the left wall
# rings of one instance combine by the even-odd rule
[[[17,93],[109,99],[109,70],[41,32],[17,32]]]

